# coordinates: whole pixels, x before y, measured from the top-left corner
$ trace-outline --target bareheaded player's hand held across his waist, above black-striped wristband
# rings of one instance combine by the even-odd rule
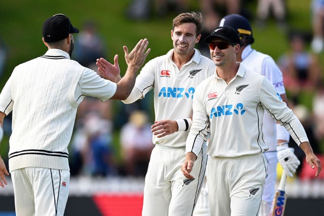
[[[157,135],[157,138],[165,137],[178,131],[178,124],[175,120],[155,121],[151,126],[151,132]]]

